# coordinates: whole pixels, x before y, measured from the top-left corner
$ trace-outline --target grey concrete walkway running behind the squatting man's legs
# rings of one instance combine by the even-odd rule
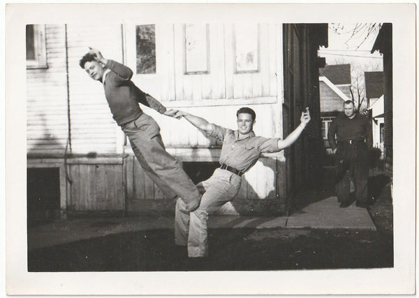
[[[173,229],[173,221],[172,216],[162,215],[58,220],[29,228],[28,249],[45,248],[125,232]],[[214,215],[210,217],[208,225],[210,228],[367,229],[376,231],[366,208],[358,208],[355,204],[348,208],[339,208],[336,197],[317,201],[289,217]]]

